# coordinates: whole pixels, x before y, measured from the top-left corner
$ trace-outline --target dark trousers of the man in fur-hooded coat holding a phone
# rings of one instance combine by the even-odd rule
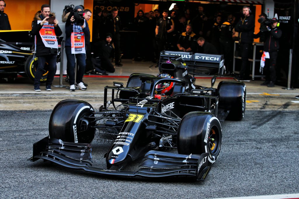
[[[51,85],[54,79],[54,75],[56,73],[56,58],[57,55],[44,55],[37,57],[38,66],[36,68],[36,72],[34,75],[34,86],[40,85],[40,78],[42,77],[42,73],[44,72],[45,63],[48,63],[48,75],[46,85]]]

